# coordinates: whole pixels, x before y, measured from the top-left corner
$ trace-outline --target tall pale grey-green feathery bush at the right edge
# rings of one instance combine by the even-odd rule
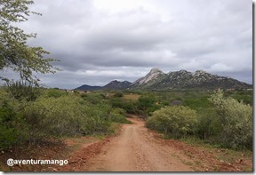
[[[210,101],[220,117],[220,140],[227,147],[252,148],[252,107],[217,91]]]

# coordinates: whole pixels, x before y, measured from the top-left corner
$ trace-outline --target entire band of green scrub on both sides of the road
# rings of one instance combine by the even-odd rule
[[[0,88],[0,149],[79,135],[108,134],[139,115],[166,138],[196,138],[252,149],[252,91],[81,91],[22,81]]]

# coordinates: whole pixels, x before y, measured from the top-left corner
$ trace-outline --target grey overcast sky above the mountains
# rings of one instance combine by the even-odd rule
[[[49,87],[203,69],[252,84],[252,0],[35,0],[20,24],[63,69]],[[4,73],[7,74],[7,73]],[[8,73],[12,75],[12,73]],[[14,76],[13,76],[14,77]]]

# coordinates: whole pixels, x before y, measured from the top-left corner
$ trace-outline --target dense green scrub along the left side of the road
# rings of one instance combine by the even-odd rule
[[[43,89],[22,81],[0,89],[0,149],[62,137],[108,134],[129,123],[102,93]]]

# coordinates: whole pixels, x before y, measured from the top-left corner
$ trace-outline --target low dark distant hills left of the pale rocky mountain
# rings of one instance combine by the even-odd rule
[[[82,85],[77,87],[74,90],[78,91],[99,91],[99,90],[123,90],[129,87],[132,83],[128,81],[119,82],[117,80],[114,80],[104,86],[91,86],[91,85]]]

